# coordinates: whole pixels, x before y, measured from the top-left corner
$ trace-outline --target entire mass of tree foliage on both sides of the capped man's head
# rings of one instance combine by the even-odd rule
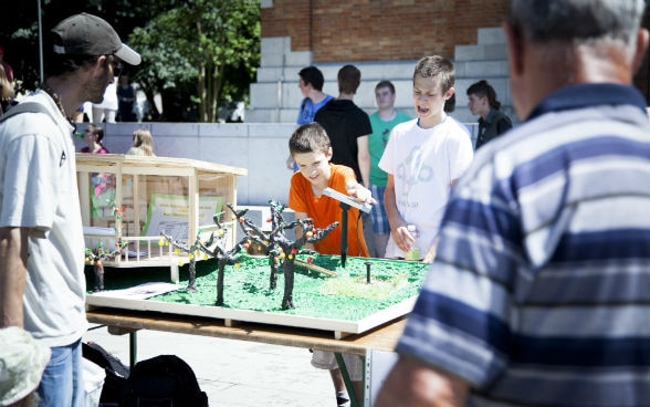
[[[159,121],[214,122],[219,101],[244,101],[260,63],[259,0],[41,0],[43,35],[86,11],[111,22],[143,55],[125,71]],[[0,0],[0,44],[20,87],[39,82],[38,0]],[[11,11],[9,11],[11,10]],[[4,12],[7,11],[7,12]],[[164,115],[154,95],[162,97]]]

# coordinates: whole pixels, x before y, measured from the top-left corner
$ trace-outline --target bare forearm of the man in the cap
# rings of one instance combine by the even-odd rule
[[[0,228],[0,326],[23,327],[27,281],[27,228]]]

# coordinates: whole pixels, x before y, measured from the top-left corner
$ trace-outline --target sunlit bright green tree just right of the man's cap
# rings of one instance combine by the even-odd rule
[[[190,0],[136,28],[128,41],[144,61],[135,81],[147,98],[156,92],[162,95],[167,119],[181,115],[216,122],[220,100],[248,93],[229,80],[242,81],[243,72],[248,84],[259,65],[259,2]],[[184,100],[184,94],[189,98]]]

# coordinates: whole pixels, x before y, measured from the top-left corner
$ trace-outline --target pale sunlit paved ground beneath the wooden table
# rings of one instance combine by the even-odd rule
[[[336,406],[329,373],[312,367],[307,349],[158,331],[137,336],[138,361],[161,354],[185,359],[212,407]],[[84,341],[98,343],[128,365],[128,335],[98,327]]]

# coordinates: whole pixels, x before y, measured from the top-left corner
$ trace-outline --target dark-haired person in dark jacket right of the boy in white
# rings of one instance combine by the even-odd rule
[[[486,81],[479,81],[468,87],[468,107],[473,115],[480,115],[476,147],[504,134],[512,128],[512,121],[499,108],[496,92]]]

